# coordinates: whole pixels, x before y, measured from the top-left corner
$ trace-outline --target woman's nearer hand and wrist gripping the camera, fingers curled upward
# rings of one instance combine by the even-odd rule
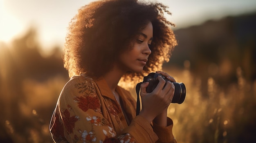
[[[168,106],[170,105],[175,86],[170,81],[165,81],[162,77],[158,76],[157,79],[159,83],[156,88],[151,92],[146,92],[146,87],[148,86],[148,82],[141,84],[141,104],[142,109],[139,115],[146,118],[149,122],[153,121],[153,119],[162,113]],[[164,86],[166,83],[166,86]]]

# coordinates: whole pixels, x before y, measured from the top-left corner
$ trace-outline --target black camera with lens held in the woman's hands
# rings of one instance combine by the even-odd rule
[[[158,76],[161,76],[166,82],[170,81],[168,79],[165,79],[165,77],[159,73],[150,73],[148,74],[148,76],[144,77],[143,79],[143,82],[149,82],[148,87],[146,88],[146,92],[150,93],[156,88],[157,84],[159,83],[157,79]],[[171,101],[171,103],[181,104],[183,103],[186,97],[186,87],[183,83],[173,82],[173,84],[175,86],[175,90],[174,90],[173,100]]]

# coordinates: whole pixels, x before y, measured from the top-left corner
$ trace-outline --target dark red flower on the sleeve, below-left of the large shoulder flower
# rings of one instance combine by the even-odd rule
[[[63,115],[63,122],[67,132],[73,133],[73,128],[75,127],[75,123],[78,121],[78,118],[76,116],[70,117],[70,112],[67,109],[64,110]]]

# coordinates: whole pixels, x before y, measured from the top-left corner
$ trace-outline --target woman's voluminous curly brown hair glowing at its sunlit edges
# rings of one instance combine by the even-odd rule
[[[64,46],[69,76],[101,77],[110,71],[117,56],[132,47],[132,40],[148,22],[153,24],[148,62],[141,73],[128,72],[122,79],[134,81],[161,70],[177,45],[170,28],[175,25],[164,17],[164,13],[171,15],[167,8],[159,2],[137,0],[99,0],[81,7],[70,22]]]

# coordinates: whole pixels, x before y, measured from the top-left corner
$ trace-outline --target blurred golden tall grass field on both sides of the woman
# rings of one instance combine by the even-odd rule
[[[249,83],[237,68],[237,83],[222,88],[213,77],[202,85],[189,68],[164,69],[175,75],[177,82],[186,85],[186,99],[182,104],[171,104],[168,116],[173,119],[173,133],[179,143],[243,143],[255,142],[256,81]],[[58,95],[66,83],[64,77],[44,82],[22,80],[22,100],[13,102],[1,97],[4,113],[1,117],[1,141],[13,143],[52,143],[49,120]],[[207,88],[204,95],[202,87]],[[13,90],[5,87],[4,91]],[[133,92],[133,91],[132,91]],[[2,92],[4,93],[4,92]],[[16,98],[18,95],[11,95]],[[13,104],[16,104],[15,106]]]

